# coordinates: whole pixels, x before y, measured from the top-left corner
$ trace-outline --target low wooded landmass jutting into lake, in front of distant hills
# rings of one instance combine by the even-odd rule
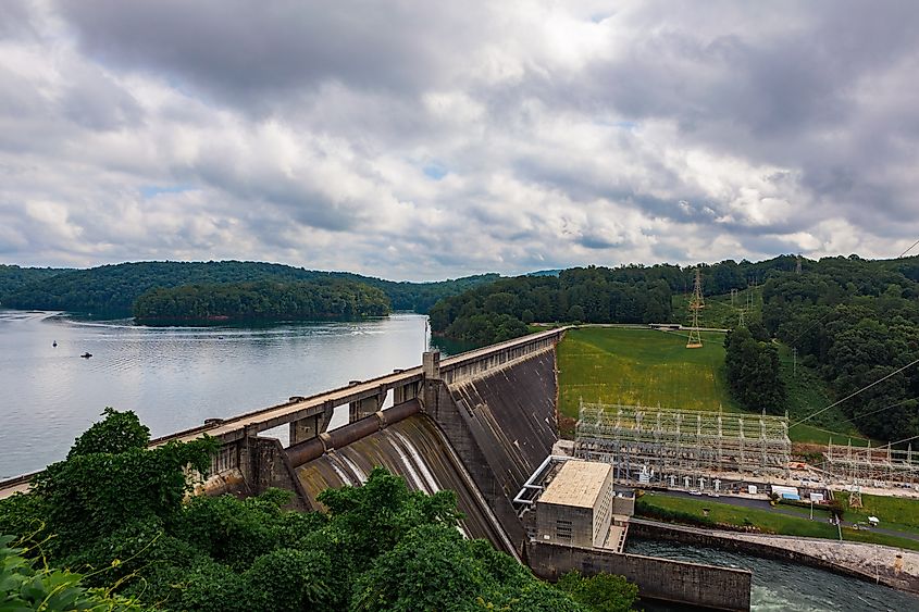
[[[187,285],[147,291],[134,302],[145,325],[251,321],[355,320],[389,314],[375,288],[340,279]]]

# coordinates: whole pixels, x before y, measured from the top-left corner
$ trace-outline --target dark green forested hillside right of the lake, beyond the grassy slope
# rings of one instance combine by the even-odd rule
[[[799,273],[797,264],[797,258],[786,255],[700,266],[704,293],[722,296],[713,304],[719,325],[737,325],[747,293],[755,302],[746,312],[754,337],[736,336],[731,351],[737,359],[744,357],[730,372],[741,403],[783,412],[781,389],[762,387],[777,377],[770,336],[797,349],[798,359],[817,369],[834,399],[919,360],[919,258],[803,259]],[[566,270],[558,277],[505,278],[442,300],[431,310],[431,326],[437,334],[488,344],[525,334],[531,322],[685,322],[681,304],[694,270],[629,265]],[[731,289],[742,291],[736,307],[726,299]],[[755,363],[762,367],[749,365]],[[919,365],[912,365],[840,408],[864,434],[901,440],[919,436],[917,398]]]

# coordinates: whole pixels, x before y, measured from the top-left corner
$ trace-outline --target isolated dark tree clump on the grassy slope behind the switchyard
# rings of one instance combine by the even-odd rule
[[[740,327],[724,338],[724,348],[728,384],[734,399],[747,410],[784,414],[785,386],[779,375],[775,347],[757,341],[749,329]]]

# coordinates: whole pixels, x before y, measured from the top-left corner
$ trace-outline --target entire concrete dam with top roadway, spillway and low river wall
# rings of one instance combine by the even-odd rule
[[[748,609],[750,574],[527,539],[513,500],[558,440],[556,345],[551,329],[289,401],[159,438],[203,435],[222,445],[199,491],[258,495],[270,487],[295,494],[293,505],[323,510],[325,489],[360,485],[382,465],[411,489],[455,491],[460,529],[555,579],[579,569],[635,580],[644,597],[717,609]],[[348,423],[328,429],[336,411]],[[260,434],[289,428],[290,444]],[[28,489],[34,474],[0,483],[0,498]],[[661,579],[666,578],[666,579]],[[700,592],[700,585],[708,585]]]

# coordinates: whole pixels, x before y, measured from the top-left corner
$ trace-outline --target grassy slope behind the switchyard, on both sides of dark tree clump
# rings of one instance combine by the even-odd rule
[[[737,412],[728,388],[724,336],[703,333],[703,348],[686,349],[685,332],[583,327],[569,332],[558,348],[559,426],[572,437],[581,398],[585,402],[623,403],[687,410]],[[788,389],[788,415],[794,422],[829,405],[824,385],[800,364],[792,375],[790,351],[780,350]],[[792,427],[795,442],[827,444],[830,437],[854,445],[866,440],[837,410],[823,413],[817,426]]]

